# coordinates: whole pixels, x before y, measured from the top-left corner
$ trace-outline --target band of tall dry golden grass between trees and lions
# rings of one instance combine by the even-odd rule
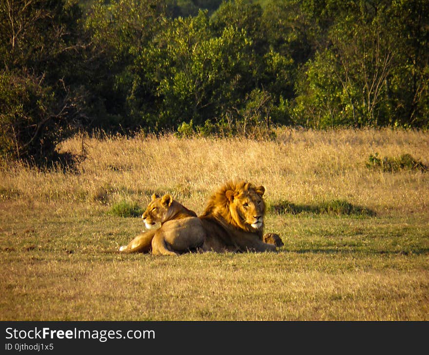
[[[377,213],[428,211],[428,173],[369,169],[371,154],[410,154],[429,164],[429,134],[390,129],[288,130],[273,141],[243,138],[84,139],[87,159],[74,172],[37,171],[16,165],[0,172],[3,198],[112,205],[131,199],[145,205],[153,192],[171,193],[197,212],[225,180],[263,184],[268,201],[320,204],[345,200]],[[80,153],[82,139],[64,142]]]

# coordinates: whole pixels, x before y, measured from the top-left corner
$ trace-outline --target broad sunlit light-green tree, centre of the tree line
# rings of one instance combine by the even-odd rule
[[[136,60],[137,77],[156,90],[161,125],[204,124],[236,105],[247,91],[250,46],[233,26],[214,35],[206,12],[172,21]]]

